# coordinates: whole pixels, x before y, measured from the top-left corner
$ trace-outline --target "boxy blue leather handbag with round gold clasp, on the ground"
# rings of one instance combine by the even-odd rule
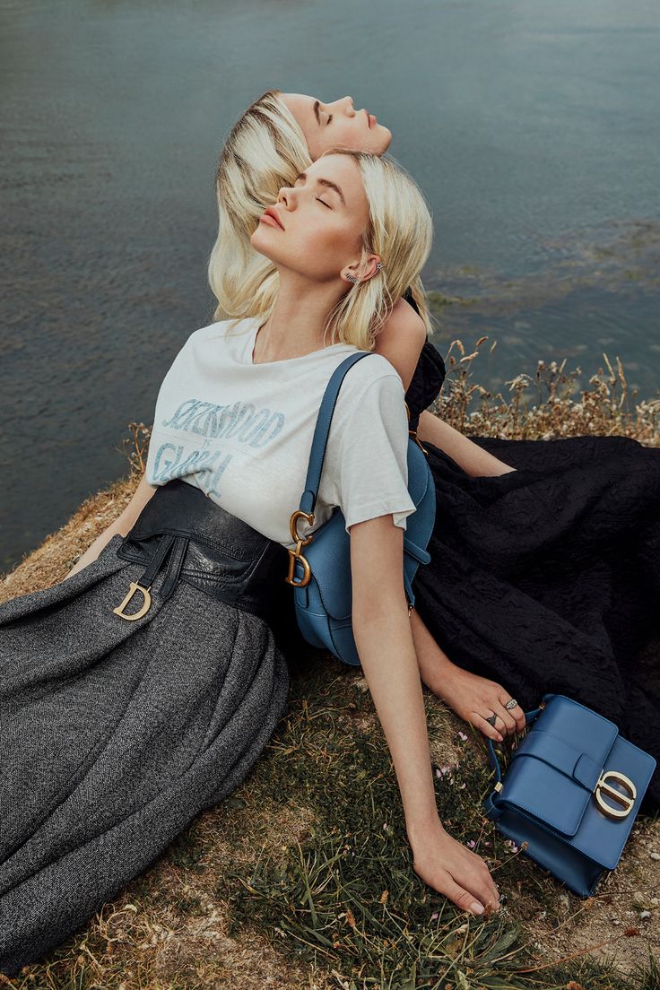
[[[503,781],[493,741],[495,789],[484,802],[496,828],[570,890],[591,897],[616,866],[656,760],[622,739],[609,719],[563,694],[525,713],[533,725]]]

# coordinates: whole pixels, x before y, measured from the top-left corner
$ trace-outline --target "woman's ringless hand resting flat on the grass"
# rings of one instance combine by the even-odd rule
[[[409,837],[410,838],[410,837]],[[500,892],[488,866],[476,852],[452,839],[442,826],[410,839],[413,868],[424,883],[444,894],[462,911],[480,915],[497,911]]]

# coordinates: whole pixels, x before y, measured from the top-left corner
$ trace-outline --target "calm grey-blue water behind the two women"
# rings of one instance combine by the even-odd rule
[[[657,394],[654,0],[0,0],[0,22],[0,569],[126,473],[128,424],[212,319],[218,153],[272,86],[393,131],[426,284],[470,300],[442,353],[497,339],[497,389],[566,355],[586,381],[605,350]]]

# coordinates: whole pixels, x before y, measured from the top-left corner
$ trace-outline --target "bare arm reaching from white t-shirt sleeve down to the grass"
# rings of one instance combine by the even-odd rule
[[[416,872],[465,911],[497,908],[481,856],[442,828],[433,790],[424,696],[403,582],[403,536],[392,515],[350,527],[355,644],[397,774]]]

